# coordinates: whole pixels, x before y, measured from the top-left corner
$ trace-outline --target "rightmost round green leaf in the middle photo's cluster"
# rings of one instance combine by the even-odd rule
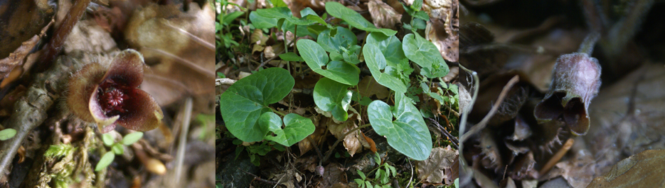
[[[448,65],[433,43],[418,34],[407,34],[402,40],[404,55],[423,67],[422,75],[427,78],[437,78],[448,74]]]

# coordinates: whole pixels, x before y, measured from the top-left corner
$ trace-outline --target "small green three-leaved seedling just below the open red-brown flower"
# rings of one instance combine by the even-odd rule
[[[113,140],[113,136],[111,136],[110,133],[103,134],[102,141],[104,141],[104,145],[106,145],[106,147],[111,147],[111,151],[106,152],[104,156],[102,156],[102,159],[99,159],[99,163],[97,163],[97,166],[94,167],[94,171],[101,171],[102,169],[106,168],[106,166],[111,165],[113,159],[116,158],[116,154],[125,153],[123,145],[132,145],[133,143],[136,143],[139,139],[141,139],[141,137],[143,136],[144,136],[143,132],[129,133],[125,135],[125,138],[123,138],[123,140],[120,140],[120,142],[116,143]]]

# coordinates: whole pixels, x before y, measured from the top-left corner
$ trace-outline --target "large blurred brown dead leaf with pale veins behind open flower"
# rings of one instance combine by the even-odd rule
[[[125,29],[132,48],[143,54],[151,70],[141,89],[165,106],[186,95],[210,100],[215,87],[215,13],[210,6],[191,4],[181,12],[175,5],[151,3],[137,8]],[[202,101],[205,102],[205,101]]]

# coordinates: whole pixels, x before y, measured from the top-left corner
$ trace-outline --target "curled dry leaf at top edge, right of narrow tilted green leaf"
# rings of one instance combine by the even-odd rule
[[[383,1],[370,0],[367,3],[367,10],[372,15],[372,22],[378,28],[395,29],[395,24],[401,22],[402,15]]]

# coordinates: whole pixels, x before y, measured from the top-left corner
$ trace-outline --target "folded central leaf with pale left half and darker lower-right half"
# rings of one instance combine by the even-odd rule
[[[312,71],[345,85],[358,84],[360,69],[357,66],[339,61],[328,62],[328,54],[321,45],[309,39],[298,40],[297,48]]]

